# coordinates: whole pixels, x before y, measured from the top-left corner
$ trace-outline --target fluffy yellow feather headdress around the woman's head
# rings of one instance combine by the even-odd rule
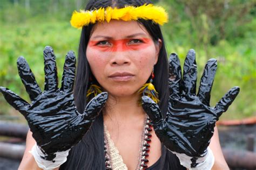
[[[74,11],[70,23],[77,29],[83,26],[95,24],[96,22],[110,22],[110,20],[152,20],[156,24],[163,25],[168,22],[168,14],[164,8],[154,6],[153,4],[144,4],[142,6],[126,6],[125,8],[100,8],[98,10],[80,12]]]

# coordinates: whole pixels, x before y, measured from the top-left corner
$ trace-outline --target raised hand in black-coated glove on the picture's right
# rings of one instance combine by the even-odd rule
[[[158,105],[151,98],[142,97],[143,108],[152,120],[158,138],[169,150],[190,157],[201,157],[206,153],[215,122],[239,93],[239,87],[233,87],[214,108],[210,107],[210,93],[216,70],[217,60],[208,60],[196,95],[196,53],[193,49],[188,52],[182,78],[178,56],[171,54],[167,116],[161,116]]]

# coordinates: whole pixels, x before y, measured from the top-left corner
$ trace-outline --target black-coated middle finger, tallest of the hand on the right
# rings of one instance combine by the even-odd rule
[[[197,63],[196,63],[196,52],[194,49],[188,51],[183,68],[183,93],[185,96],[196,95],[197,86]]]

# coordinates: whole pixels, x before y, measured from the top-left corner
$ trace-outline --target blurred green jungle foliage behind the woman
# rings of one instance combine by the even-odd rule
[[[168,53],[177,53],[183,65],[188,49],[196,50],[198,82],[207,60],[218,59],[211,106],[215,106],[228,89],[240,87],[240,94],[220,121],[255,117],[256,1],[153,2],[169,12],[170,22],[162,26]],[[85,4],[85,0],[0,0],[0,86],[8,87],[29,101],[16,66],[18,56],[22,55],[43,89],[43,49],[46,45],[52,46],[57,56],[60,81],[65,54],[69,50],[76,54],[78,51],[80,30],[71,27],[70,17],[74,10],[83,9]],[[23,116],[10,107],[3,95],[0,95],[0,121],[26,124]],[[239,128],[233,131],[236,133]],[[245,129],[241,133],[245,133]],[[241,136],[232,138],[240,139]],[[225,145],[225,141],[221,144]],[[240,144],[236,146],[240,147]]]

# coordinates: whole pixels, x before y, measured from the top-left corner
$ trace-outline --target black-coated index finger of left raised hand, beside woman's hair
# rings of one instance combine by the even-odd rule
[[[69,51],[66,54],[65,64],[63,67],[63,76],[62,76],[62,87],[60,90],[65,92],[71,92],[74,86],[76,74],[76,56],[75,53]]]

